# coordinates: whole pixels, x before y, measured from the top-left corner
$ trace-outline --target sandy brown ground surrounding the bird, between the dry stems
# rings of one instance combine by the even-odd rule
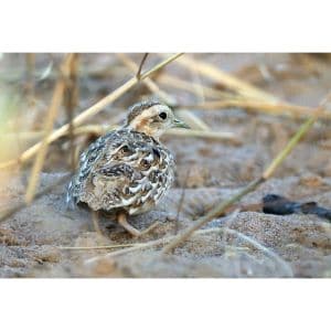
[[[314,58],[314,66],[306,67],[299,56],[286,54],[199,56],[299,105],[317,105],[331,79],[329,60],[324,57]],[[99,63],[106,58],[106,55],[99,56]],[[89,62],[90,57],[86,60],[87,64]],[[269,79],[256,73],[257,64],[268,68]],[[175,72],[175,66],[170,66],[169,72]],[[107,90],[111,90],[113,85],[118,84],[117,79],[110,81],[82,82],[82,109],[90,104],[92,96],[100,95],[103,88],[107,86]],[[186,94],[171,88],[169,92],[180,100],[190,100]],[[131,104],[141,93],[135,90],[121,98],[121,105]],[[95,122],[104,122],[119,109],[117,103],[100,114]],[[140,229],[158,221],[152,232],[134,239],[111,218],[102,216],[99,223],[105,237],[99,236],[94,231],[88,211],[66,209],[65,181],[0,223],[0,276],[330,277],[331,232],[328,221],[313,215],[277,216],[243,211],[246,205],[260,203],[269,193],[301,202],[316,201],[331,207],[331,134],[327,121],[316,124],[276,177],[245,196],[236,205],[236,212],[213,220],[205,227],[211,232],[190,238],[173,254],[162,255],[161,245],[117,256],[107,256],[115,249],[62,249],[146,243],[181,232],[215,203],[228,199],[256,179],[301,122],[242,109],[194,110],[194,114],[213,130],[235,132],[241,143],[164,137],[163,142],[177,158],[175,184],[153,211],[130,220]],[[67,163],[61,157],[67,148],[64,140],[52,146],[39,190],[67,174]],[[0,173],[0,210],[23,201],[28,179],[26,170],[20,174]]]

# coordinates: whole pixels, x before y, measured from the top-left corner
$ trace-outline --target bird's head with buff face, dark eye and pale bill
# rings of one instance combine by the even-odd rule
[[[126,127],[156,139],[159,139],[170,128],[190,128],[185,122],[175,118],[170,107],[154,100],[142,102],[131,106],[127,116]]]

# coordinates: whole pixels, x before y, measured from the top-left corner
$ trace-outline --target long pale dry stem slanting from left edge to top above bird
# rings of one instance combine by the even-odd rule
[[[145,79],[145,78],[147,78],[149,76],[151,76],[152,74],[154,74],[156,72],[158,72],[159,70],[161,70],[163,66],[168,65],[169,63],[173,62],[174,60],[177,60],[181,55],[182,55],[182,53],[178,53],[178,54],[174,54],[172,56],[169,56],[167,60],[160,62],[159,64],[157,64],[156,66],[153,66],[151,70],[149,70],[146,73],[143,73],[140,76],[140,81]],[[105,108],[109,104],[114,103],[116,99],[118,99],[120,96],[122,96],[129,89],[131,89],[140,81],[138,81],[138,78],[136,76],[132,77],[132,78],[130,78],[125,84],[122,84],[121,86],[119,86],[117,89],[113,90],[106,97],[104,97],[103,99],[100,99],[98,103],[96,103],[95,105],[93,105],[92,107],[87,108],[86,110],[84,110],[83,113],[81,113],[78,116],[76,116],[73,119],[73,125],[74,126],[79,126],[79,125],[84,124],[88,118],[90,118],[92,116],[95,116],[103,108]],[[61,128],[54,130],[51,135],[49,135],[49,137],[46,138],[45,141],[47,143],[51,143],[51,142],[57,140],[60,137],[62,137],[62,136],[64,136],[64,135],[66,135],[68,132],[68,128],[70,128],[68,124],[62,126]],[[24,164],[26,161],[29,161],[31,158],[33,158],[35,156],[35,153],[40,150],[41,147],[42,147],[42,141],[35,143],[34,146],[32,146],[31,148],[29,148],[28,150],[25,150],[20,156],[20,158],[15,159],[15,160],[10,160],[10,161],[1,163],[0,164],[0,170],[1,169],[6,169],[6,168],[11,168],[11,167],[17,167],[19,164]]]

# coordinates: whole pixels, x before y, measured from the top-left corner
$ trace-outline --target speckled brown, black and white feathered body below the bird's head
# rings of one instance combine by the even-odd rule
[[[67,202],[92,210],[140,214],[152,209],[171,186],[174,160],[159,141],[121,128],[100,137],[82,154],[70,183]]]

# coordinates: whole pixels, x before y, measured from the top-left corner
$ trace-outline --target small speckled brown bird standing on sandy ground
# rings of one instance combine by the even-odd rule
[[[115,212],[122,227],[141,235],[127,216],[151,210],[173,182],[173,156],[159,141],[169,128],[189,126],[157,100],[131,106],[121,128],[98,138],[81,156],[67,203]]]

